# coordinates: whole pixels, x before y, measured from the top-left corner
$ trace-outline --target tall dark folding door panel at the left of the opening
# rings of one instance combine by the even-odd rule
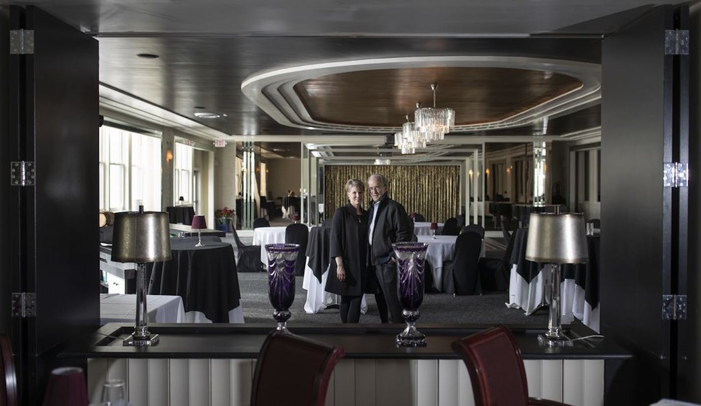
[[[100,323],[97,41],[38,8],[27,8],[27,131],[36,162],[27,227],[27,289],[36,292],[30,355]],[[91,158],[92,157],[92,158]]]

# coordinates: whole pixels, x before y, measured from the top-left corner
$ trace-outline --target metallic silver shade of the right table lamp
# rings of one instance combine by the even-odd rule
[[[584,215],[531,213],[526,260],[581,264],[589,260]]]

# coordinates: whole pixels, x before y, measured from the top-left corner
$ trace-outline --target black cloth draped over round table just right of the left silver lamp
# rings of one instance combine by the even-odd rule
[[[154,263],[149,294],[179,295],[185,311],[201,311],[214,323],[229,323],[229,311],[239,306],[240,290],[231,244],[218,237],[172,238],[172,259]]]

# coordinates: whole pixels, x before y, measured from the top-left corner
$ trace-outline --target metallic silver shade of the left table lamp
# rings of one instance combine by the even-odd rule
[[[170,260],[168,213],[124,211],[115,214],[112,260],[156,262]]]

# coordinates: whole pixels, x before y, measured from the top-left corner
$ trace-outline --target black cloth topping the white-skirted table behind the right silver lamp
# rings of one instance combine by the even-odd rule
[[[522,227],[514,232],[514,251],[510,263],[517,264],[517,272],[528,283],[538,276],[543,264],[526,260],[526,240],[528,228]],[[587,236],[589,261],[586,264],[565,264],[562,266],[562,279],[574,279],[577,286],[584,289],[584,298],[592,309],[599,306],[599,261],[601,258],[599,236]]]

